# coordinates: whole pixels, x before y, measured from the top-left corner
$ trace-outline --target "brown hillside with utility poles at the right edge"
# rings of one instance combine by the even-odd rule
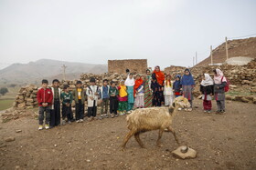
[[[229,40],[229,58],[236,56],[246,56],[256,58],[256,37]],[[225,42],[213,50],[213,63],[224,63],[227,59]],[[210,56],[198,63],[196,66],[206,66],[210,64]]]

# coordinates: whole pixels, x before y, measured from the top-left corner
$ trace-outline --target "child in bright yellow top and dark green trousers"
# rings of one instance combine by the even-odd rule
[[[127,92],[124,81],[121,80],[120,85],[118,86],[119,95],[118,95],[118,111],[120,115],[124,115],[127,109]]]

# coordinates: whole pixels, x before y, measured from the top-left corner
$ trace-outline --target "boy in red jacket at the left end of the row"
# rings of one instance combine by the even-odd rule
[[[39,105],[39,128],[38,130],[43,129],[44,124],[44,115],[46,112],[46,121],[45,127],[49,128],[49,119],[50,119],[50,106],[52,105],[52,91],[48,88],[48,80],[42,80],[42,87],[37,92],[37,101]]]

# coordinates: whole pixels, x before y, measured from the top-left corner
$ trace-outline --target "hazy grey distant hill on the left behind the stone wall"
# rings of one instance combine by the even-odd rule
[[[62,79],[62,65],[66,68],[66,78],[77,79],[82,73],[102,74],[107,72],[107,65],[65,62],[59,60],[40,59],[28,64],[13,64],[0,70],[0,84],[37,84],[43,78]]]

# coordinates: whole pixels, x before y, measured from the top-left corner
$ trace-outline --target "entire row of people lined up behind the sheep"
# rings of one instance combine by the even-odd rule
[[[52,82],[52,87],[48,87],[48,80],[42,80],[42,87],[37,92],[37,101],[39,105],[39,130],[43,129],[44,113],[46,112],[45,128],[60,125],[60,110],[62,114],[62,125],[76,121],[83,122],[84,103],[88,100],[88,120],[96,119],[97,105],[101,103],[100,119],[112,118],[118,115],[130,114],[135,108],[145,108],[151,106],[171,105],[175,97],[184,95],[187,97],[191,107],[186,111],[192,111],[192,92],[195,87],[194,78],[189,69],[185,70],[183,76],[176,75],[175,82],[171,75],[165,75],[160,71],[159,66],[155,66],[155,71],[151,73],[146,70],[146,75],[136,75],[135,79],[130,70],[126,70],[126,80],[120,81],[116,86],[114,82],[107,79],[103,80],[103,85],[96,85],[95,78],[91,78],[86,89],[82,87],[81,81],[77,81],[76,88],[70,92],[69,85],[63,86],[63,92],[59,88],[59,80]],[[215,96],[218,105],[218,113],[225,112],[225,91],[224,86],[227,83],[223,73],[214,70],[214,80],[204,74],[200,85],[200,91],[203,94],[203,106],[205,112],[211,111],[211,95]],[[75,101],[75,119],[72,114],[71,104]],[[60,105],[62,104],[62,109]],[[108,108],[110,107],[110,108]],[[108,115],[108,112],[110,115]],[[119,114],[118,114],[119,113]]]

